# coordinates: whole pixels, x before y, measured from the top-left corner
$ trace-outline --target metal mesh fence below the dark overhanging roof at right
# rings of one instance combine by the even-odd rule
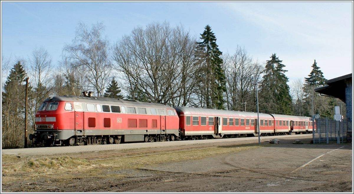
[[[336,121],[327,117],[315,121],[314,144],[347,143],[347,121]]]

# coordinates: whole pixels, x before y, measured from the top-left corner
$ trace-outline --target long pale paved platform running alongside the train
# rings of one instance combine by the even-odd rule
[[[312,134],[261,137],[261,143],[268,142],[270,139],[275,139],[275,138],[278,139],[312,138]],[[210,144],[210,143],[231,143],[231,144],[232,143],[235,144],[258,143],[258,137],[187,140],[187,141],[154,142],[154,143],[124,143],[124,144],[64,146],[64,147],[47,147],[47,148],[2,149],[1,154],[16,155],[16,156],[59,155],[59,154],[84,153],[84,152],[105,151],[105,150],[161,148],[161,147],[168,147],[168,146],[182,146],[182,145]]]

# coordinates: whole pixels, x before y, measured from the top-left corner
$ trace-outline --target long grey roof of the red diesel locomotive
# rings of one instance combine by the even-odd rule
[[[120,105],[120,106],[141,106],[141,107],[155,107],[160,109],[171,109],[172,107],[158,104],[154,102],[141,102],[137,100],[123,100],[117,98],[103,98],[103,97],[88,97],[88,96],[75,96],[75,95],[64,95],[64,96],[53,96],[49,97],[44,102],[49,101],[69,101],[69,102],[84,102],[92,104],[109,104],[109,105]]]

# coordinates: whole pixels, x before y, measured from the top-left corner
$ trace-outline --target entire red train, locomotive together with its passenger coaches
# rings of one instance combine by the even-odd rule
[[[86,93],[84,93],[85,95]],[[310,117],[259,113],[260,134],[312,133]],[[175,107],[85,96],[46,99],[35,115],[35,145],[92,145],[257,135],[257,113]]]

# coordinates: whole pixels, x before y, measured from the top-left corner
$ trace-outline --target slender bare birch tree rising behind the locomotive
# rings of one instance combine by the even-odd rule
[[[82,78],[96,90],[97,96],[103,96],[112,71],[112,65],[108,58],[109,41],[103,37],[103,23],[92,25],[91,30],[80,22],[76,29],[76,37],[71,45],[64,46],[65,57],[70,59],[74,67],[80,69]]]

